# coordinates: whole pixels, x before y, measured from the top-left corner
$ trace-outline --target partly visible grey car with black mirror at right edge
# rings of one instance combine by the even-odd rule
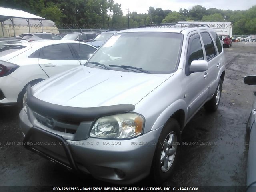
[[[248,85],[256,85],[256,76],[244,77],[244,83]],[[255,95],[255,92],[254,92]],[[247,125],[246,133],[249,135],[249,149],[247,158],[247,191],[254,192],[256,187],[256,97],[252,103],[252,110],[250,112]]]

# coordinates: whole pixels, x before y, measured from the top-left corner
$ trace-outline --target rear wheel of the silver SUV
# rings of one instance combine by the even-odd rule
[[[218,109],[218,106],[220,104],[221,92],[222,92],[222,80],[220,79],[212,99],[204,104],[204,108],[206,109],[206,111],[214,112]]]

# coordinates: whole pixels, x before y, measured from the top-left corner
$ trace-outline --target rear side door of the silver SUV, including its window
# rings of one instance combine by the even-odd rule
[[[218,70],[220,68],[220,59],[217,57],[217,51],[214,46],[214,42],[209,34],[209,32],[204,31],[200,33],[202,36],[202,41],[204,44],[206,58],[208,61],[209,68],[207,71],[208,74],[208,88],[209,88],[209,96],[212,96],[217,88],[217,77]]]

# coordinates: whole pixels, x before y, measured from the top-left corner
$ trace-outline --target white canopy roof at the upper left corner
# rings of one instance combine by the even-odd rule
[[[45,19],[22,10],[0,7],[0,22],[4,22],[5,20],[8,20],[10,18],[38,19],[38,20]]]

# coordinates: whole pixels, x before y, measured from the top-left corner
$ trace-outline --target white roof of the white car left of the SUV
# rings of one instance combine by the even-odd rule
[[[12,46],[15,45],[23,45],[23,46],[33,46],[33,47],[44,47],[48,45],[53,45],[53,44],[64,44],[64,43],[76,43],[76,44],[86,44],[84,42],[79,42],[79,41],[73,41],[73,40],[41,40],[41,41],[32,41],[32,42],[23,42],[23,43],[15,43],[15,44],[10,44]],[[94,47],[92,45],[89,45],[91,47]],[[95,48],[95,47],[94,47]]]

